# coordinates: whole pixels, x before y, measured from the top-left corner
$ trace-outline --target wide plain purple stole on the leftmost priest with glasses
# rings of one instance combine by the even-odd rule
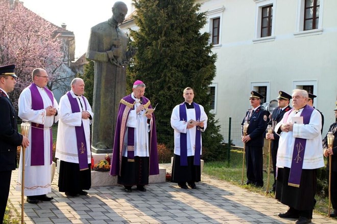
[[[35,85],[35,83],[32,83],[28,87],[31,91],[31,97],[32,97],[32,109],[33,110],[40,110],[44,109],[43,100],[42,97],[38,91],[38,87]],[[52,101],[52,105],[54,105],[54,96],[52,91],[50,91],[47,88],[43,88],[44,91],[47,93],[49,98]],[[44,118],[42,119],[41,123],[44,122]],[[44,165],[44,125],[43,124],[37,124],[32,122],[32,128],[31,128],[31,165]],[[53,131],[50,129],[50,164],[52,164],[52,157],[53,157]]]

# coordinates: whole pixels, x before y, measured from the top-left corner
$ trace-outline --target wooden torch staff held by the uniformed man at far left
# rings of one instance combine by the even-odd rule
[[[28,120],[22,120],[21,123],[21,134],[28,137],[30,124]],[[21,224],[25,223],[25,152],[26,147],[21,146],[22,150],[22,172],[21,172]]]

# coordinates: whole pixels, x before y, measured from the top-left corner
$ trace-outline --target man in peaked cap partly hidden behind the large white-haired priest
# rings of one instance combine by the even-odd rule
[[[275,186],[276,186],[276,155],[277,155],[277,149],[278,149],[278,141],[280,139],[280,136],[277,133],[275,133],[274,127],[276,126],[278,122],[282,120],[284,113],[292,108],[289,105],[289,102],[292,96],[283,91],[279,91],[278,93],[279,93],[279,96],[277,97],[278,107],[274,109],[272,118],[270,122],[268,123],[269,125],[272,126],[273,133],[269,134],[268,132],[266,132],[266,138],[272,139],[271,153],[272,153],[273,170],[274,170],[274,184],[273,184],[272,191],[275,191]]]

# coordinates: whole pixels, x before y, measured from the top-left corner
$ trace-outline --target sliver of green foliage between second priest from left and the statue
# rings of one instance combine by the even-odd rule
[[[92,106],[94,66],[93,61],[89,59],[87,59],[87,61],[89,63],[84,66],[83,75],[78,75],[78,77],[82,78],[84,81],[84,96],[88,99],[89,104]]]

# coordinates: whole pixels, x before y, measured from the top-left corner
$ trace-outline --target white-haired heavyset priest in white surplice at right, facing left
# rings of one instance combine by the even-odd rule
[[[275,126],[280,135],[275,198],[288,206],[279,217],[310,223],[317,191],[316,170],[324,166],[322,117],[317,109],[307,105],[305,90],[293,90],[292,98],[294,108]]]

